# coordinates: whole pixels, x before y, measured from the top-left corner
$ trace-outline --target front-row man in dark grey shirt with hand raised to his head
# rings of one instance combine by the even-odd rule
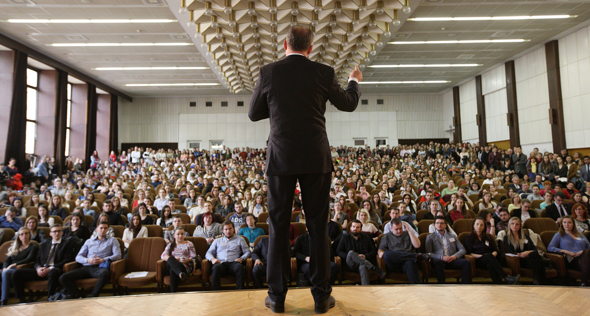
[[[404,226],[406,229],[404,231]],[[387,270],[404,272],[408,275],[410,284],[420,284],[420,273],[417,262],[428,261],[428,254],[418,254],[420,240],[414,234],[409,234],[409,224],[398,218],[391,220],[391,232],[383,235],[377,254],[383,258]]]

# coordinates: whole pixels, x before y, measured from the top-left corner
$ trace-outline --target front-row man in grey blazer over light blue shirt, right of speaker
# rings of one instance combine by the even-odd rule
[[[459,238],[448,229],[444,216],[434,218],[436,231],[426,237],[426,252],[430,254],[432,268],[438,284],[445,284],[445,269],[461,270],[461,283],[471,283],[471,262],[464,259],[465,248]]]

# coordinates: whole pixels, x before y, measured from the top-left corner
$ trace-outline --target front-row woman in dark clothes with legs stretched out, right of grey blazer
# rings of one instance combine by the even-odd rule
[[[515,284],[520,275],[510,277],[497,260],[498,248],[494,237],[486,234],[486,221],[478,217],[471,224],[471,234],[467,235],[465,249],[467,254],[476,260],[476,267],[487,269],[490,272],[494,284],[501,284],[502,279],[506,284]]]

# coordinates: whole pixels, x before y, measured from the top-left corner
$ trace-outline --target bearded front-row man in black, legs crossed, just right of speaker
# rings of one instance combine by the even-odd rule
[[[336,254],[342,259],[342,268],[359,272],[360,284],[369,285],[369,270],[377,272],[379,278],[385,277],[385,271],[376,265],[377,248],[375,241],[366,234],[360,234],[362,223],[353,219],[350,234],[342,235]]]

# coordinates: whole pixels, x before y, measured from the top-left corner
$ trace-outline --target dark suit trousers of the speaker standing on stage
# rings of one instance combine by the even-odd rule
[[[330,276],[330,242],[327,233],[328,200],[332,172],[325,174],[267,175],[268,240],[267,283],[268,296],[273,302],[284,302],[290,273],[289,224],[297,180],[310,236],[309,277],[313,300],[324,302],[332,293]]]

